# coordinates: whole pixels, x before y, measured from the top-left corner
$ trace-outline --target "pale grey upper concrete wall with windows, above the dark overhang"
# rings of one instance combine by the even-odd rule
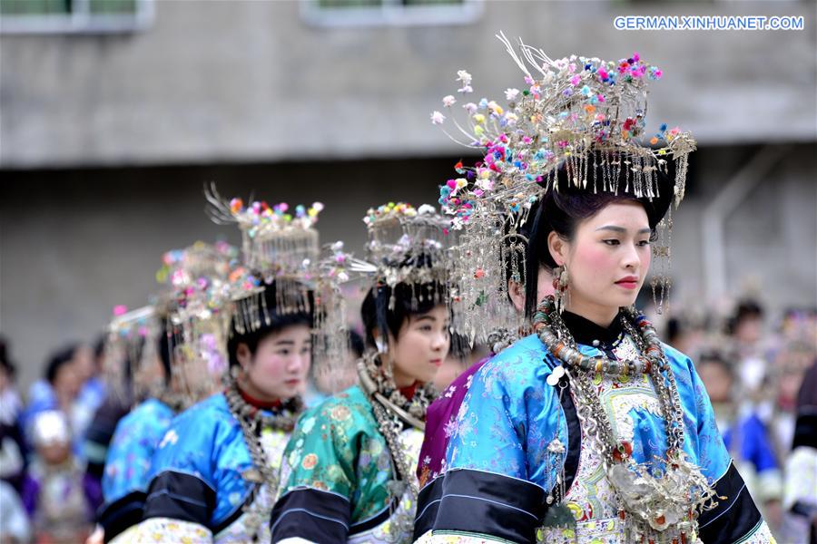
[[[322,28],[297,2],[156,2],[120,35],[0,37],[5,167],[458,154],[428,114],[522,84],[494,34],[553,57],[634,51],[650,113],[704,145],[814,141],[813,2],[486,2],[474,24]],[[616,15],[804,15],[802,31],[618,31]]]

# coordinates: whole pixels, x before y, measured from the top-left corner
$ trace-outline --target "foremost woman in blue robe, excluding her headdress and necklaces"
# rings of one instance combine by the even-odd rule
[[[633,184],[626,185],[633,188],[627,192],[624,180],[618,194],[596,194],[568,184],[563,167],[556,177],[558,190],[544,195],[526,276],[536,277],[538,267],[569,271],[558,276],[567,305],[561,320],[581,355],[606,355],[611,361],[641,355],[623,323],[629,317],[619,308],[635,302],[649,268],[651,233],[673,195],[668,180],[659,180],[664,183],[660,199],[636,195]],[[533,317],[536,285],[526,289],[527,315]],[[656,529],[659,536],[650,543],[773,541],[723,445],[694,365],[672,347],[662,347],[683,412],[683,451],[714,488],[716,505],[698,512],[696,531],[679,536],[664,538],[679,531],[661,531],[681,519],[657,516],[653,521],[663,528]],[[529,335],[477,371],[450,429],[442,486],[437,496],[424,499],[436,515],[426,519],[418,510],[416,539],[611,544],[630,539],[633,526],[625,522],[610,472],[588,438],[595,422],[578,417],[576,398],[581,397],[573,391],[574,379],[592,380],[588,390],[598,395],[615,440],[632,449],[625,456],[653,475],[662,471],[668,442],[664,417],[669,415],[644,372],[585,377],[562,365],[538,335]],[[677,489],[683,488],[669,486],[663,492]]]

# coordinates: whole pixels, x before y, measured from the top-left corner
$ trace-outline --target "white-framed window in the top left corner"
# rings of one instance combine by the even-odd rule
[[[153,0],[0,0],[3,34],[126,33],[153,22]]]

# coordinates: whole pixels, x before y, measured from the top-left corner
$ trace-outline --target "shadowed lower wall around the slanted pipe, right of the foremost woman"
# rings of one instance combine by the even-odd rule
[[[675,212],[674,311],[701,307],[730,312],[735,298],[752,295],[772,317],[787,307],[817,306],[817,146],[780,146],[780,159],[760,172],[736,207],[721,218],[723,286],[707,263],[714,233],[704,212],[763,147],[714,147],[691,160],[690,192]]]

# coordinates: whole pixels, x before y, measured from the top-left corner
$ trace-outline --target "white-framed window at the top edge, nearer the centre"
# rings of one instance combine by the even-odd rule
[[[318,26],[469,24],[483,0],[300,0],[300,13]]]

